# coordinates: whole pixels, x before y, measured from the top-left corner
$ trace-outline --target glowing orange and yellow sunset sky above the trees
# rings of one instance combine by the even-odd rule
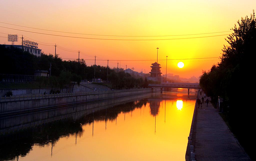
[[[57,30],[65,32],[125,35],[161,36],[183,35],[229,31],[238,19],[250,16],[256,8],[256,1],[0,1],[0,22],[9,24]],[[73,37],[101,39],[175,39],[228,34],[230,32],[169,37],[110,37],[69,34],[44,31],[0,23],[2,27],[20,30],[57,34]],[[7,35],[19,34],[39,43],[45,53],[55,52],[57,46],[70,50],[80,50],[80,58],[94,59],[97,65],[117,67],[117,60],[155,60],[158,47],[158,61],[165,74],[166,56],[168,59],[190,59],[219,57],[226,36],[153,41],[92,40],[42,35],[0,27],[0,44],[6,43]],[[20,36],[19,36],[20,37]],[[39,42],[40,41],[40,42]],[[44,42],[44,43],[41,43]],[[15,44],[21,43],[21,40]],[[46,44],[53,43],[53,44]],[[45,44],[45,45],[42,45]],[[47,46],[51,45],[51,46]],[[56,53],[62,58],[77,59],[78,52],[68,52],[57,47]],[[150,72],[155,61],[121,61],[121,67],[134,67]],[[94,60],[87,60],[88,65]],[[209,70],[218,58],[184,60],[184,68],[178,68],[178,60],[168,61],[167,73],[180,77],[200,76],[202,70]]]

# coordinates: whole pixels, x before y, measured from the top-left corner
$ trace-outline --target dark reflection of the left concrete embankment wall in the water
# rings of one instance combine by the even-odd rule
[[[53,108],[50,110],[40,110],[37,112],[28,112],[13,116],[3,116],[0,118],[0,136],[2,134],[17,132],[20,130],[24,130],[30,127],[35,127],[41,124],[46,124],[57,120],[71,119],[73,121],[76,121],[90,113],[111,108],[117,105],[125,104],[133,100],[139,100],[144,98],[145,96],[151,96],[152,94],[153,93],[126,96],[119,99],[109,99],[105,101],[97,101],[92,103],[81,103],[78,105]],[[18,136],[15,136],[14,138],[17,139],[17,137]],[[9,139],[12,138],[13,137]]]

